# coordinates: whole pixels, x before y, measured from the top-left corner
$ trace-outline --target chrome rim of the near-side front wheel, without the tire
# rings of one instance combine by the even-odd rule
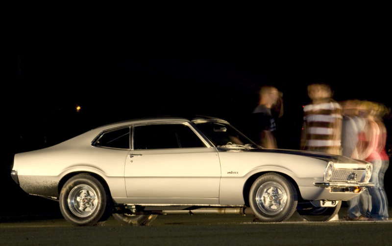
[[[276,215],[281,212],[285,208],[286,202],[286,191],[276,182],[266,182],[257,190],[257,206],[267,215]]]

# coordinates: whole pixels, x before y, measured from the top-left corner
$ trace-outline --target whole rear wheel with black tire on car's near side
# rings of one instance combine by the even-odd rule
[[[70,178],[60,191],[60,211],[73,225],[98,225],[112,212],[109,189],[87,173]]]

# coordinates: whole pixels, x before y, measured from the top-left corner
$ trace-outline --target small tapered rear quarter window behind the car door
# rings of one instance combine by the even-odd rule
[[[103,133],[95,146],[129,149],[129,127]]]

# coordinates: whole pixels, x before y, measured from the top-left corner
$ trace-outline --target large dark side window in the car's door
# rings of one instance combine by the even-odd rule
[[[206,147],[184,124],[136,126],[133,139],[135,150]]]

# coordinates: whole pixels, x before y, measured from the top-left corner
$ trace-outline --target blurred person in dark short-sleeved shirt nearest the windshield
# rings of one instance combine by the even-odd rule
[[[259,96],[259,105],[253,110],[251,117],[251,137],[260,146],[276,148],[276,122],[271,108],[279,100],[279,91],[273,86],[263,86],[259,90]]]

